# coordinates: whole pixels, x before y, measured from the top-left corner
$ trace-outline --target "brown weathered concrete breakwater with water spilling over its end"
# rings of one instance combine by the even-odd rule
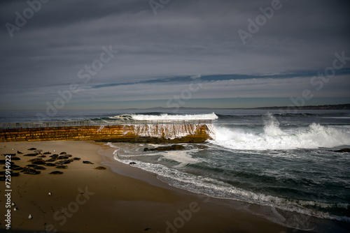
[[[181,143],[210,138],[211,121],[68,121],[0,124],[0,142],[95,140]]]

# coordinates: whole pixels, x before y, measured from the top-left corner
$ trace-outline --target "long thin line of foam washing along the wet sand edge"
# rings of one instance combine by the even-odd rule
[[[117,151],[115,151],[114,154],[114,158],[121,163],[129,164],[134,162],[136,163],[134,165],[135,167],[139,167],[147,172],[157,174],[158,179],[160,179],[161,181],[165,181],[166,183],[169,183],[170,185],[175,186],[177,188],[190,190],[193,193],[201,193],[212,197],[229,198],[232,200],[239,200],[248,203],[258,203],[265,206],[272,206],[274,208],[283,209],[286,211],[306,214],[308,216],[316,216],[317,218],[336,219],[346,222],[349,222],[350,220],[347,217],[331,216],[328,213],[312,211],[311,209],[307,209],[306,207],[304,207],[304,205],[309,205],[332,208],[335,206],[339,206],[340,204],[346,206],[346,208],[349,208],[349,204],[346,203],[328,204],[317,200],[290,200],[282,197],[274,197],[272,195],[253,193],[248,190],[243,190],[241,188],[230,186],[228,183],[224,183],[223,181],[211,179],[206,176],[195,176],[193,174],[181,172],[174,168],[166,167],[165,165],[145,163],[139,160],[122,159],[120,158],[120,155],[117,154]],[[193,162],[195,161],[193,160]]]

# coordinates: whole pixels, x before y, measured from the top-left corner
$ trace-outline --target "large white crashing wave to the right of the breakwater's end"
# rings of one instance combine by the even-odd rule
[[[311,123],[308,128],[283,131],[272,115],[267,115],[262,133],[214,126],[216,137],[211,143],[238,150],[315,149],[350,144],[349,128],[321,126]]]

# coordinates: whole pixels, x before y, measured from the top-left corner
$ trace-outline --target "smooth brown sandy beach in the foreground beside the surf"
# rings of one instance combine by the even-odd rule
[[[293,232],[240,211],[243,203],[173,188],[154,174],[119,163],[113,159],[113,148],[104,143],[0,143],[1,154],[23,153],[17,153],[20,160],[12,160],[21,167],[42,156],[24,156],[33,153],[30,148],[50,151],[43,160],[62,152],[80,160],[73,160],[66,169],[44,165],[41,174],[15,171],[20,176],[10,181],[10,202],[15,203],[10,208],[6,207],[6,183],[1,181],[1,215],[11,210],[11,229],[6,231],[2,220],[1,232]],[[106,170],[94,169],[101,166]]]

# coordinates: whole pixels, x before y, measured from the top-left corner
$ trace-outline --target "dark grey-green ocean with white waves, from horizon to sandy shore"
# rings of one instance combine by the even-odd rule
[[[313,230],[317,220],[349,230],[350,153],[336,151],[350,148],[350,111],[284,112],[61,111],[50,120],[211,119],[212,139],[204,144],[144,151],[164,144],[108,143],[111,156],[177,188],[264,206],[256,214],[296,230]],[[34,111],[0,112],[0,123],[36,121],[35,116]]]

